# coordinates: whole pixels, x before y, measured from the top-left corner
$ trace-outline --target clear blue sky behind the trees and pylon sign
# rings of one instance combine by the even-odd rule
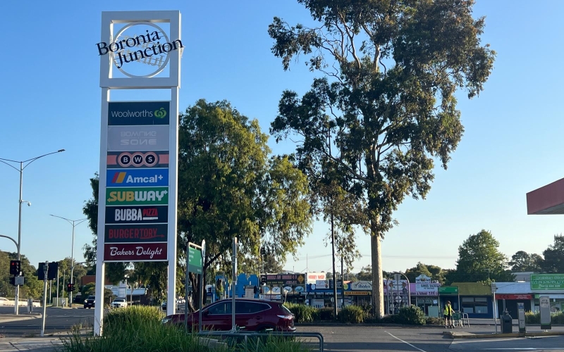
[[[33,265],[71,256],[72,227],[84,218],[92,196],[89,178],[99,168],[99,57],[102,11],[179,10],[182,13],[180,108],[197,99],[226,99],[257,118],[265,132],[276,116],[283,89],[305,92],[312,74],[303,62],[284,72],[266,30],[277,15],[290,23],[309,21],[296,1],[6,1],[3,23],[0,158],[25,160],[66,149],[32,163],[24,172],[22,253]],[[276,4],[276,5],[274,5]],[[507,256],[541,253],[563,232],[563,217],[527,216],[525,194],[564,177],[560,163],[564,93],[564,2],[478,1],[486,16],[484,42],[498,52],[495,69],[477,99],[460,94],[465,135],[448,170],[436,170],[427,200],[408,199],[400,225],[386,235],[384,270],[405,270],[418,261],[454,268],[458,246],[486,229]],[[274,153],[292,150],[269,141]],[[0,164],[0,234],[18,235],[18,172]],[[288,270],[327,271],[331,249],[323,246],[328,226],[317,223]],[[75,259],[92,241],[76,227]],[[363,256],[353,271],[370,263],[369,238],[358,233]],[[16,251],[7,239],[0,249]],[[306,262],[306,257],[309,259]]]

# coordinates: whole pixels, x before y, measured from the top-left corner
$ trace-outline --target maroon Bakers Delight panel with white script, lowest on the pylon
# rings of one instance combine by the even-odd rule
[[[167,260],[166,242],[148,244],[104,244],[106,262],[140,262]]]

